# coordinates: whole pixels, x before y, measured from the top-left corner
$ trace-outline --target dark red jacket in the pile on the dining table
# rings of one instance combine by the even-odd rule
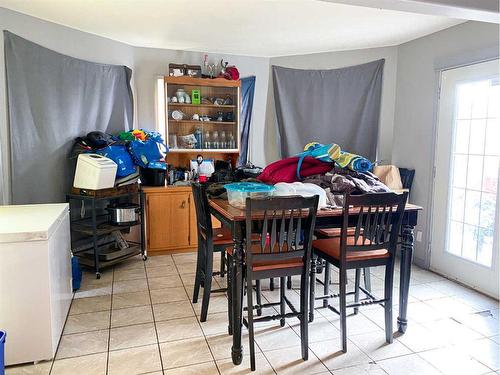
[[[299,157],[294,156],[282,159],[269,164],[257,177],[260,181],[267,184],[277,184],[278,182],[300,181],[297,178],[297,164]],[[325,163],[311,156],[306,156],[300,168],[300,176],[307,177],[314,174],[325,174],[331,171],[333,163]]]

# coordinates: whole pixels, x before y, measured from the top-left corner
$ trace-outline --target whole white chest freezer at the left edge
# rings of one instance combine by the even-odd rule
[[[0,206],[5,364],[54,357],[72,298],[67,203]]]

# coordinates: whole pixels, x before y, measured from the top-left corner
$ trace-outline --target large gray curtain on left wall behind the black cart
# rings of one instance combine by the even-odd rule
[[[12,203],[64,202],[73,141],[133,122],[131,70],[65,56],[4,31]]]

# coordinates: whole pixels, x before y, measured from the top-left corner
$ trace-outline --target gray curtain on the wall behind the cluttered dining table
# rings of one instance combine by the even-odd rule
[[[273,66],[281,157],[317,141],[374,160],[384,61],[332,70]]]

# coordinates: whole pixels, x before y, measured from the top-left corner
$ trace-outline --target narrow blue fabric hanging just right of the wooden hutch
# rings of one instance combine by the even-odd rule
[[[248,138],[250,136],[250,123],[252,121],[253,95],[255,91],[255,76],[241,79],[241,137],[240,157],[237,165],[245,165],[248,162]],[[236,136],[235,136],[236,138]]]

